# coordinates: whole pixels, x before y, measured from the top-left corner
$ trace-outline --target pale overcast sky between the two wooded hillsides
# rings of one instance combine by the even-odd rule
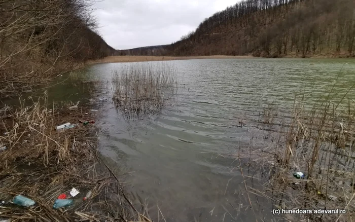
[[[238,0],[104,0],[95,4],[99,33],[115,49],[165,45]]]

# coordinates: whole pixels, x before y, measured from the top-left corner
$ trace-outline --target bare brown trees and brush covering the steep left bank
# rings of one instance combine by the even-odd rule
[[[94,30],[92,1],[0,0],[0,97],[116,50]]]

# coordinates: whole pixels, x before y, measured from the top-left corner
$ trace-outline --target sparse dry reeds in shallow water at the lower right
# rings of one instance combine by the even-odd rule
[[[346,210],[282,215],[291,221],[355,218],[355,101],[348,96],[352,90],[340,95],[333,86],[312,105],[298,95],[289,113],[277,112],[277,105],[270,103],[259,118],[263,127],[254,127],[258,132],[252,133],[248,151],[239,151],[244,160],[249,156],[249,164],[261,166],[265,190],[249,191],[269,198],[272,208]],[[306,177],[295,178],[298,171]]]

